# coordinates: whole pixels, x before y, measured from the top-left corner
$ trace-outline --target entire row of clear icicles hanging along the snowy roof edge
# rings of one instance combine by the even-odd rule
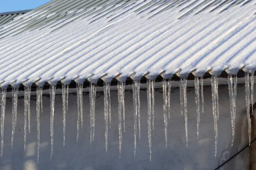
[[[214,132],[215,132],[215,157],[217,155],[218,144],[218,118],[219,118],[219,104],[218,104],[218,77],[212,76],[212,110],[214,118]],[[251,143],[251,124],[250,124],[250,105],[253,105],[253,84],[254,74],[245,74],[245,99],[247,108],[247,121],[249,132],[249,143]],[[154,130],[154,80],[147,82],[147,97],[148,97],[148,144],[150,151],[150,161],[152,157],[152,137],[151,133]],[[236,85],[237,77],[228,75],[228,91],[230,96],[230,114],[232,122],[232,144],[234,143],[235,119],[236,119]],[[164,139],[167,147],[167,127],[168,120],[170,120],[170,89],[171,81],[162,81],[163,89],[163,117],[164,117]],[[122,151],[123,132],[125,132],[125,82],[119,82],[118,90],[118,114],[119,114],[119,157]],[[136,155],[136,143],[140,138],[141,116],[140,116],[140,98],[139,98],[139,81],[133,81],[133,118],[134,118],[134,156]],[[53,124],[55,114],[55,91],[56,87],[51,86],[50,100],[51,100],[51,157],[53,155]],[[3,155],[3,134],[5,123],[5,102],[6,89],[1,89],[1,157]],[[30,93],[31,88],[24,89],[24,150],[26,150],[26,136],[27,129],[30,133]],[[63,99],[63,146],[65,146],[66,133],[66,114],[68,110],[69,86],[62,85],[62,99]],[[180,97],[181,97],[181,115],[185,118],[185,135],[188,144],[188,130],[187,130],[187,79],[180,80]],[[90,143],[94,141],[95,133],[95,99],[96,99],[96,83],[90,83]],[[197,112],[197,138],[199,137],[200,114],[203,113],[203,79],[195,77],[195,105]],[[12,130],[11,130],[11,148],[13,146],[13,137],[15,134],[15,126],[17,124],[17,106],[18,106],[18,88],[13,88],[12,91]],[[37,130],[37,159],[39,159],[40,151],[40,114],[42,113],[42,87],[36,89],[36,130]],[[83,84],[77,83],[77,140],[79,138],[79,128],[83,126]],[[28,122],[27,122],[28,120]],[[104,128],[105,128],[105,150],[108,150],[108,128],[111,128],[111,108],[110,108],[110,83],[104,83]]]

